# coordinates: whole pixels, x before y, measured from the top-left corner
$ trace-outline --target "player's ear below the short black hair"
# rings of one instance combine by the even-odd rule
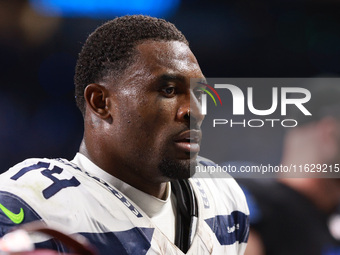
[[[87,108],[101,119],[110,117],[109,93],[107,89],[99,84],[89,84],[85,88],[84,97]]]

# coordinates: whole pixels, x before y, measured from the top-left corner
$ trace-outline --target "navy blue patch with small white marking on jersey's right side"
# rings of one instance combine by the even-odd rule
[[[206,223],[215,233],[221,245],[232,245],[235,242],[246,243],[249,236],[248,215],[234,211],[230,215],[216,215],[206,219]]]

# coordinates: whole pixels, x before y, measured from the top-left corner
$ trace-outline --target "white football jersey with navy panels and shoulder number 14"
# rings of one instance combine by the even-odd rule
[[[243,254],[249,211],[239,186],[232,178],[189,181],[198,219],[186,254]],[[85,236],[102,255],[184,254],[128,197],[64,159],[28,159],[0,175],[0,237],[35,220]],[[41,238],[37,247],[66,252]]]

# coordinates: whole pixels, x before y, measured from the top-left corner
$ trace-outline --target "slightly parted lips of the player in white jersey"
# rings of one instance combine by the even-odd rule
[[[187,130],[176,136],[174,141],[179,150],[188,153],[198,153],[200,151],[201,137],[200,131]]]

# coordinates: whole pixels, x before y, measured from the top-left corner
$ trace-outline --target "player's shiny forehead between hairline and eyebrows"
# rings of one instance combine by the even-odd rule
[[[179,41],[146,41],[136,46],[136,68],[153,75],[169,73],[187,78],[201,78],[203,74],[188,45]]]

